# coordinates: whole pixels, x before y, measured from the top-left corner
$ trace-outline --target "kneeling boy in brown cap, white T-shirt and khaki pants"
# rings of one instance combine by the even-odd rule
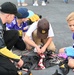
[[[23,38],[29,45],[28,50],[36,48],[37,53],[44,53],[47,50],[55,51],[56,47],[53,43],[54,32],[51,24],[47,19],[42,18],[34,22],[28,29]],[[41,49],[40,46],[44,45]]]

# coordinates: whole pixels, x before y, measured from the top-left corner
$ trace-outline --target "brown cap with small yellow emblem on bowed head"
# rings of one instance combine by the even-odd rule
[[[45,18],[42,18],[41,20],[39,20],[37,25],[38,37],[41,39],[47,38],[48,30],[49,30],[49,22]]]

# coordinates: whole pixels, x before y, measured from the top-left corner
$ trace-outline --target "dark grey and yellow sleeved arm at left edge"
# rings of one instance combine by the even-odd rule
[[[4,37],[3,37],[3,24],[0,20],[0,55],[5,56],[9,59],[13,59],[15,61],[19,61],[20,57],[16,54],[10,52],[5,45]]]

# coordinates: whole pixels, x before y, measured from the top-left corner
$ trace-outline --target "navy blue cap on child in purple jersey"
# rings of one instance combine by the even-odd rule
[[[21,14],[20,17],[17,17],[18,19],[27,18],[29,16],[29,12],[27,8],[20,7],[18,8],[18,12]]]

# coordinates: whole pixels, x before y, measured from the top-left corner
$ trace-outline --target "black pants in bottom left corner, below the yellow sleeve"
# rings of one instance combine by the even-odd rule
[[[3,56],[0,56],[0,75],[18,75],[15,65]]]

